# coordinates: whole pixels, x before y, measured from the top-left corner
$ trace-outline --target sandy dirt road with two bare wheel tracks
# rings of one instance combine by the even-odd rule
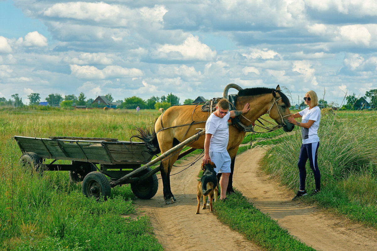
[[[290,234],[317,250],[335,251],[377,250],[377,231],[345,219],[330,216],[291,201],[291,192],[268,180],[258,167],[264,150],[254,148],[236,157],[233,186],[249,198],[257,208],[269,213]],[[179,165],[190,163],[193,158]],[[170,178],[176,203],[165,205],[162,183],[155,197],[136,200],[140,211],[150,217],[156,237],[167,251],[204,250],[263,250],[242,235],[222,225],[208,209],[196,211],[196,184],[200,160],[189,169]],[[182,170],[176,167],[172,173]],[[212,241],[211,240],[222,240]],[[210,246],[206,246],[211,243]]]

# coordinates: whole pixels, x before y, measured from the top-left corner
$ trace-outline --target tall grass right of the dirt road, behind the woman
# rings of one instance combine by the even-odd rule
[[[322,113],[318,135],[321,194],[309,197],[320,207],[377,228],[377,119],[375,111]],[[297,161],[301,128],[271,145],[262,168],[291,189],[299,187]],[[314,176],[307,162],[307,190]]]

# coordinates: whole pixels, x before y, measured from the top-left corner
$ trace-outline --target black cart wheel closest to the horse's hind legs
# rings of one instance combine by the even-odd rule
[[[141,175],[144,175],[152,171],[152,168],[148,167]],[[158,179],[157,175],[153,174],[146,180],[141,181],[141,183],[131,183],[131,190],[133,194],[140,199],[150,199],[156,195],[158,190]]]

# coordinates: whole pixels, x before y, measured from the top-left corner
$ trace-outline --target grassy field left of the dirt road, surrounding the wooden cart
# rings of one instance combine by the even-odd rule
[[[162,250],[147,216],[135,219],[129,186],[112,199],[85,198],[67,172],[41,177],[20,167],[13,135],[111,137],[128,140],[133,125],[154,122],[157,111],[0,110],[0,246],[5,250]],[[64,161],[61,161],[64,162]],[[69,161],[68,161],[69,162]]]

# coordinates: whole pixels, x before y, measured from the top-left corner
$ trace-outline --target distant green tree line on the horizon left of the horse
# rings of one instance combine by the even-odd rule
[[[111,93],[104,95],[107,100],[113,102],[113,97]],[[22,107],[25,104],[22,102],[22,98],[19,97],[18,93],[11,95],[12,99],[6,100],[5,97],[0,97],[0,106],[4,105],[14,105],[15,107]],[[31,93],[28,95],[29,105],[39,105],[41,97],[39,93]],[[74,94],[65,95],[64,97],[58,93],[51,93],[45,98],[46,102],[49,103],[52,107],[63,107],[63,108],[70,108],[72,105],[80,105],[80,106],[87,106],[93,108],[102,108],[106,106],[104,103],[93,103],[93,99],[89,98],[86,99],[86,96],[83,92],[81,92],[78,97]],[[189,104],[192,103],[193,99],[186,99],[183,103]],[[124,109],[136,109],[139,106],[141,109],[159,109],[164,108],[165,110],[173,105],[180,105],[179,97],[170,93],[162,95],[161,97],[152,96],[147,100],[142,99],[141,97],[132,96],[126,97],[124,100],[116,100],[119,105],[116,108],[124,108]]]

